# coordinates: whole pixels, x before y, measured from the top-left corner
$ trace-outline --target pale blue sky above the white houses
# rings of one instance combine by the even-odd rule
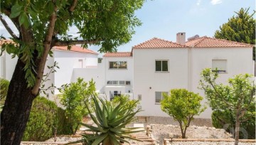
[[[147,0],[136,12],[142,25],[135,28],[132,40],[117,47],[117,50],[129,52],[132,46],[153,37],[176,42],[176,33],[179,32],[185,32],[186,38],[196,34],[213,37],[215,30],[235,15],[234,11],[248,7],[252,13],[255,0]],[[0,25],[0,31],[0,34],[9,37],[3,25]],[[94,51],[98,48],[89,47]]]

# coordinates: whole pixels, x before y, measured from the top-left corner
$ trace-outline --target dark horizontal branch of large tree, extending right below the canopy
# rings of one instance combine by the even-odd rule
[[[84,44],[92,44],[95,42],[100,42],[101,40],[95,39],[95,40],[70,40],[70,41],[60,41],[55,40],[53,42],[53,46],[68,46],[68,45],[84,45]]]

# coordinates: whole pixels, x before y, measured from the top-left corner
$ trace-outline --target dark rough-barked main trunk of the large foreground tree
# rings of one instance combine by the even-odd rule
[[[26,122],[36,95],[27,88],[25,64],[18,59],[13,77],[9,84],[4,108],[1,112],[1,145],[21,144]]]

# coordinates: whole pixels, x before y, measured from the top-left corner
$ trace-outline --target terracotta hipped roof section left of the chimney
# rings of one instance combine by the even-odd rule
[[[151,40],[147,40],[146,42],[142,42],[139,45],[135,45],[134,49],[137,48],[180,48],[180,47],[186,47],[185,45],[181,45],[176,42],[171,42],[167,40],[162,40],[157,37],[154,37]]]

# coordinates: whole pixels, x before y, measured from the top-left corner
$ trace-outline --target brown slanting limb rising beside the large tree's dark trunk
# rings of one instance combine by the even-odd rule
[[[43,50],[43,56],[41,57],[40,64],[38,66],[37,76],[36,76],[36,83],[35,86],[32,89],[33,95],[38,94],[39,87],[41,85],[41,81],[43,79],[43,70],[46,66],[46,60],[48,57],[48,52],[50,51],[50,45],[53,38],[53,31],[55,28],[55,22],[57,20],[56,12],[58,11],[57,6],[55,6],[54,11],[52,15],[50,16],[50,22],[48,24],[48,32],[45,38],[44,44],[44,50]]]

